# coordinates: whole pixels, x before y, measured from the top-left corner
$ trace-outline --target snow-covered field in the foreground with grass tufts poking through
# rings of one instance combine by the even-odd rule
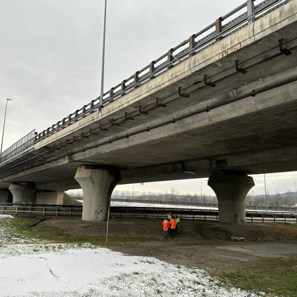
[[[203,270],[104,247],[19,244],[0,217],[0,297],[256,297]]]

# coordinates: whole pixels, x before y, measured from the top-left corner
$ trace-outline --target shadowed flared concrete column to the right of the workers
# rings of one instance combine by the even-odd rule
[[[219,221],[223,223],[246,222],[246,197],[254,186],[252,177],[214,171],[208,186],[215,192],[219,204]]]

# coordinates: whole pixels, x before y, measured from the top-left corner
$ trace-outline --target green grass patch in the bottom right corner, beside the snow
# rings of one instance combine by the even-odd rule
[[[297,258],[260,258],[232,273],[212,272],[223,284],[266,296],[297,296]]]

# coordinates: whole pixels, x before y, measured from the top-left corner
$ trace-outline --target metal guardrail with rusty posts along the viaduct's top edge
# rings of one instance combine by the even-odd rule
[[[189,39],[183,41],[176,47],[169,49],[166,53],[153,60],[142,69],[136,71],[135,74],[123,80],[121,83],[111,88],[108,92],[105,92],[103,94],[103,106],[146,84],[151,79],[163,74],[179,63],[192,57],[199,51],[206,49],[215,42],[240,30],[246,25],[254,22],[256,19],[266,15],[271,10],[286,4],[289,1],[290,0],[263,0],[255,5],[255,0],[247,0],[245,3],[233,9],[226,15],[216,19],[216,21],[198,33],[191,35]],[[246,11],[238,15],[241,10],[245,8]],[[234,17],[233,19],[226,21],[232,16]],[[226,23],[224,23],[224,21]],[[39,142],[44,138],[47,138],[49,135],[75,123],[88,114],[99,110],[99,100],[100,98],[98,97],[88,104],[85,104],[83,107],[77,109],[75,112],[53,124],[48,129],[37,134],[31,139],[31,141],[34,143]],[[12,150],[7,158],[24,149],[25,148],[20,145],[18,148]],[[1,161],[3,160],[4,159]]]

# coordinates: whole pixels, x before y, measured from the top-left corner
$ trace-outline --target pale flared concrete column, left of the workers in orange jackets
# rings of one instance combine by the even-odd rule
[[[114,187],[121,180],[120,172],[116,169],[98,169],[92,166],[79,166],[75,180],[80,184],[84,193],[84,221],[106,221],[110,197]]]

